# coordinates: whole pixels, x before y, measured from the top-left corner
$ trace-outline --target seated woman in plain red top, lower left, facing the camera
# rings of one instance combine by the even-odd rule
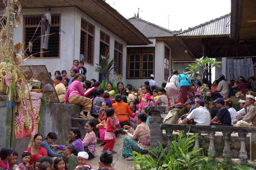
[[[36,160],[41,159],[44,156],[47,156],[46,149],[41,147],[41,144],[43,142],[43,135],[37,133],[33,138],[33,142],[33,146],[25,150],[31,154],[31,159],[29,162],[30,165],[33,165]]]

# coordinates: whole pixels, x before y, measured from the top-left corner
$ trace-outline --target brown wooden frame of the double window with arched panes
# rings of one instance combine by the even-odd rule
[[[141,53],[129,53],[128,57],[127,57],[127,70],[126,70],[126,79],[149,79],[149,77],[142,77],[142,66],[143,66],[143,55],[147,55],[150,54],[153,56],[153,69],[152,69],[152,74],[155,74],[155,53],[154,52],[141,52]],[[130,56],[131,55],[140,55],[140,76],[139,77],[130,77]],[[135,63],[135,59],[134,59],[134,63]],[[148,61],[147,61],[148,63]],[[148,70],[151,69],[147,69]],[[149,76],[149,75],[148,75]]]

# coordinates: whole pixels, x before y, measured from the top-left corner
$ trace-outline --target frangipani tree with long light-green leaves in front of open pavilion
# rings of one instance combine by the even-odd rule
[[[189,70],[187,72],[185,72],[185,74],[187,74],[188,77],[193,77],[195,79],[197,79],[198,81],[201,81],[201,83],[203,84],[203,74],[206,70],[209,70],[213,67],[222,67],[221,62],[217,62],[215,58],[200,58],[200,59],[196,59],[196,63],[194,64],[190,64],[186,69]],[[198,77],[200,76],[201,80],[198,79]]]

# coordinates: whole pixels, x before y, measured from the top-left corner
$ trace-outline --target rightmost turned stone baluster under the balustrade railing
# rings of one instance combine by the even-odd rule
[[[242,165],[246,164],[247,159],[248,159],[247,151],[245,148],[246,134],[247,134],[246,131],[238,132],[238,136],[241,141],[241,148],[239,151],[239,159],[240,159]]]

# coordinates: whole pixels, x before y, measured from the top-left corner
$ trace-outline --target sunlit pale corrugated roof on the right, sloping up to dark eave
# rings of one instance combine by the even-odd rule
[[[179,34],[177,34],[176,36],[229,35],[230,34],[229,22],[230,22],[230,14],[226,14],[219,18],[202,23],[193,28],[184,30]]]

